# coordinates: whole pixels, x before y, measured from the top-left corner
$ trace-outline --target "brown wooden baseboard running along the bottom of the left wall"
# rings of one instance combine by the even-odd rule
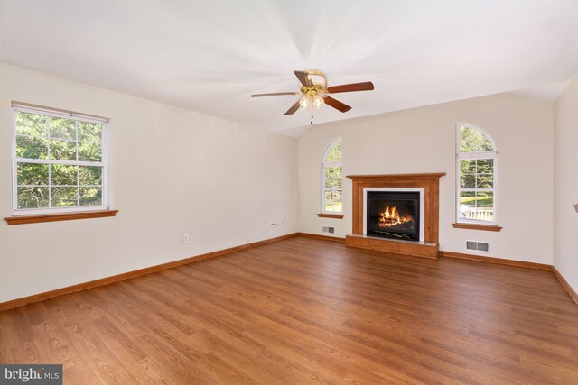
[[[54,289],[51,291],[45,291],[39,294],[33,294],[32,296],[16,298],[10,301],[0,303],[0,312],[5,310],[10,310],[15,307],[23,307],[24,305],[33,304],[34,302],[40,302],[45,299],[60,297],[65,294],[76,293],[77,291],[82,291],[86,289],[98,288],[99,286],[108,285],[109,283],[118,282],[120,280],[128,280],[129,278],[140,277],[146,274],[151,274],[161,270],[171,269],[177,266],[186,265],[192,262],[204,261],[210,258],[220,257],[222,255],[230,254],[231,252],[240,252],[241,250],[251,249],[257,246],[261,246],[266,243],[274,243],[283,241],[285,239],[294,238],[295,236],[301,235],[301,233],[292,233],[277,236],[275,238],[269,238],[263,241],[258,241],[254,243],[242,244],[240,246],[229,247],[228,249],[219,250],[217,252],[208,252],[206,254],[200,254],[194,257],[185,258],[178,261],[170,261],[162,263],[160,265],[154,265],[148,268],[127,271],[121,274],[113,275],[110,277],[101,278],[99,280],[90,280],[89,282],[83,282],[72,286],[67,286],[66,288]]]

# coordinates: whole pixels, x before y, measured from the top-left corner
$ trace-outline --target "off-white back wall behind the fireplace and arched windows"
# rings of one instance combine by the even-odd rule
[[[483,127],[499,159],[499,233],[454,229],[455,124]],[[351,182],[344,179],[343,219],[318,218],[321,158],[325,146],[343,138],[343,174],[445,172],[440,179],[440,250],[470,252],[465,241],[489,242],[479,255],[552,263],[553,104],[500,94],[320,124],[299,139],[300,230],[336,236],[351,232]],[[476,253],[476,252],[470,252]]]

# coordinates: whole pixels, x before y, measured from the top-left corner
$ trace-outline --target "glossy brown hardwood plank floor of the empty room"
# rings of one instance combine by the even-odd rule
[[[0,313],[64,383],[578,383],[552,272],[296,237]]]

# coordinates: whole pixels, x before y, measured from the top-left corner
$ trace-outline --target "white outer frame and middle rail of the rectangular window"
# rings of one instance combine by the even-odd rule
[[[79,160],[34,160],[28,158],[17,158],[16,157],[16,113],[23,112],[34,115],[44,115],[56,118],[73,119],[77,122],[87,122],[93,124],[102,124],[101,132],[101,160],[99,162],[94,161],[79,161]],[[50,107],[36,106],[36,105],[26,105],[20,103],[12,104],[12,216],[23,216],[23,215],[51,215],[51,214],[67,214],[67,213],[79,213],[79,212],[92,212],[92,211],[107,211],[108,206],[108,125],[109,119],[93,115],[83,115],[79,113],[73,113],[69,111],[64,111],[60,109],[52,109]],[[78,127],[78,124],[77,124]],[[77,128],[78,131],[78,128]],[[77,134],[78,135],[78,134]],[[50,143],[50,134],[46,137]],[[59,139],[60,138],[55,138]],[[79,142],[78,137],[74,142]],[[80,141],[82,142],[82,141]],[[50,146],[50,144],[49,144]],[[77,144],[77,158],[78,158],[78,144]],[[102,205],[98,206],[69,206],[69,207],[50,207],[50,208],[18,208],[18,163],[35,163],[35,164],[60,164],[67,166],[95,166],[102,167],[101,175],[101,189],[102,189]],[[79,186],[79,185],[77,185]],[[49,171],[49,184],[47,187],[51,188],[50,171]],[[50,197],[50,196],[49,196]],[[49,198],[50,199],[50,198]],[[78,198],[77,198],[78,199]],[[77,201],[78,202],[78,201]]]

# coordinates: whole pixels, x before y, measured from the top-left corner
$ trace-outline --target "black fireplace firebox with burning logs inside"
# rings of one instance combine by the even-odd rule
[[[368,191],[367,194],[368,235],[419,241],[419,192]]]

